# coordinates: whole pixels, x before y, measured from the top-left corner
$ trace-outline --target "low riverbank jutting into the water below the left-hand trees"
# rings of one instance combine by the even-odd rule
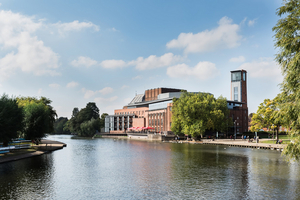
[[[32,147],[29,149],[11,150],[11,152],[0,157],[0,164],[25,158],[31,158],[34,156],[40,156],[46,153],[50,153],[52,151],[63,149],[66,146],[67,145],[62,142],[43,139],[41,140],[41,143],[39,145],[32,145]]]

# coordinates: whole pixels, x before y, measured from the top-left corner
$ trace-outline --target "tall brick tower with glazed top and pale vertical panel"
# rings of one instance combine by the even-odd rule
[[[247,71],[231,71],[231,102],[233,109],[230,115],[235,124],[237,134],[248,131],[248,105],[247,105]]]

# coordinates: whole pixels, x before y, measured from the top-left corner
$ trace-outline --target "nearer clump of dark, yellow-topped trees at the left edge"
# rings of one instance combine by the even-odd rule
[[[39,140],[53,131],[57,116],[46,97],[0,98],[0,142],[5,146],[15,138]]]

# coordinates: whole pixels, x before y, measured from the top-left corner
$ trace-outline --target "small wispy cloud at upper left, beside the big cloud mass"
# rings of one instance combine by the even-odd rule
[[[66,32],[81,31],[86,28],[92,28],[94,31],[100,30],[99,26],[93,24],[92,22],[79,22],[78,20],[69,23],[57,22],[53,24],[53,26],[57,28],[59,34],[62,36],[64,36]]]

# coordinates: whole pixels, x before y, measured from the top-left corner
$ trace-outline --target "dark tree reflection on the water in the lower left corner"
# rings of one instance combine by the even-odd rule
[[[53,193],[52,155],[0,165],[1,199],[40,199]]]

